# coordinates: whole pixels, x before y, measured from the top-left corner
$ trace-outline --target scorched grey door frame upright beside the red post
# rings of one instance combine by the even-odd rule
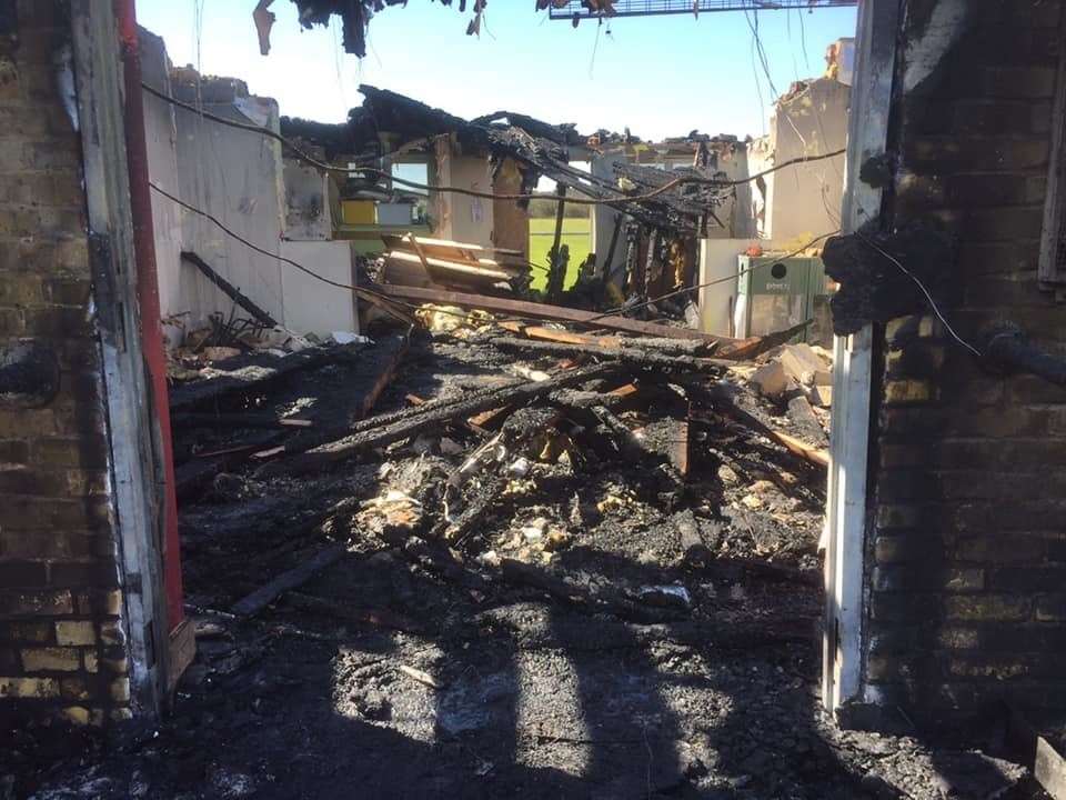
[[[133,711],[159,713],[170,683],[163,580],[163,456],[138,298],[123,73],[111,0],[70,3],[92,301],[102,363],[109,494]]]

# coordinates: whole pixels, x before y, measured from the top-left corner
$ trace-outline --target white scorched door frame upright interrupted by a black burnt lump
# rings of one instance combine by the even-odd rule
[[[901,4],[901,0],[862,0],[858,6],[841,216],[845,233],[881,212],[882,190],[859,181],[858,172],[867,159],[886,149]],[[853,336],[837,337],[833,347],[822,648],[822,702],[828,711],[858,699],[862,690],[872,344],[867,324]]]

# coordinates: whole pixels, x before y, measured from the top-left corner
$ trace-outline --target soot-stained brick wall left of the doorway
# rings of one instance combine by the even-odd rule
[[[0,7],[0,717],[102,724],[130,689],[81,144],[57,80],[70,23],[51,0]],[[19,371],[29,351],[43,377]]]

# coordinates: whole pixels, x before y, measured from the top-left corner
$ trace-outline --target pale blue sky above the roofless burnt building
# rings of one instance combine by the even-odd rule
[[[140,23],[164,38],[175,64],[242,78],[253,93],[276,98],[283,114],[323,122],[341,121],[360,104],[361,82],[461,117],[507,109],[575,122],[583,133],[627,126],[644,139],[693,129],[760,136],[773,99],[753,59],[751,18],[740,12],[621,19],[574,30],[534,12],[533,0],[491,0],[479,39],[465,36],[470,14],[459,13],[457,4],[411,0],[406,9],[374,18],[360,61],[343,52],[335,18],[329,30],[302,30],[289,0],[271,9],[278,22],[263,58],[254,6],[138,0],[137,9]],[[821,74],[826,46],[854,34],[855,9],[764,11],[757,21],[770,77],[784,92],[797,78]]]

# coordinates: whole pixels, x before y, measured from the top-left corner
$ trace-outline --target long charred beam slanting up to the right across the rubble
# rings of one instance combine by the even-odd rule
[[[379,427],[372,427],[373,420],[365,420],[364,430],[290,459],[284,471],[290,474],[309,474],[323,471],[332,464],[352,458],[360,452],[408,439],[420,431],[433,430],[434,426],[443,422],[466,419],[479,411],[487,411],[501,406],[522,403],[536,397],[550,394],[556,389],[566,389],[596,378],[605,378],[614,374],[619,369],[619,364],[607,363],[570,370],[545,381],[503,387],[461,402],[451,402],[440,407],[429,404],[410,409],[410,413],[402,419]]]

